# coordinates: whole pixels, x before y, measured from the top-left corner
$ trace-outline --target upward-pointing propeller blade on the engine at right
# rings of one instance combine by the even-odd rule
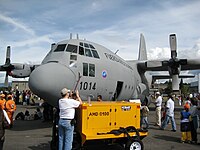
[[[176,34],[170,34],[169,43],[170,43],[170,49],[171,49],[171,58],[175,59],[177,57]]]

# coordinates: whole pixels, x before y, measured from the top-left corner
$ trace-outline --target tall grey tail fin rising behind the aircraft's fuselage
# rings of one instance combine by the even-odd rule
[[[140,34],[140,47],[139,47],[138,60],[147,60],[146,43],[145,43],[144,35],[142,33]]]

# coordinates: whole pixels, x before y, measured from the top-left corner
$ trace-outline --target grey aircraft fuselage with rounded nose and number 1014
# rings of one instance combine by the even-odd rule
[[[30,89],[52,105],[66,87],[79,90],[81,98],[104,100],[139,98],[145,86],[136,63],[128,63],[109,49],[86,40],[70,39],[51,51],[29,78]]]

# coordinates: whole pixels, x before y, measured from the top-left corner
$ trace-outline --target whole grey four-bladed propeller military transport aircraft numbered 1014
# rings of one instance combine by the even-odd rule
[[[178,78],[181,70],[200,69],[199,59],[178,59],[176,35],[169,36],[171,58],[169,60],[147,60],[144,36],[140,36],[138,60],[125,61],[116,53],[99,44],[77,39],[51,45],[50,52],[40,65],[11,63],[10,46],[7,47],[6,62],[0,71],[14,78],[29,77],[33,93],[56,105],[60,91],[78,89],[83,100],[88,96],[105,100],[148,100],[149,84],[146,71],[168,71],[173,90],[179,90]]]

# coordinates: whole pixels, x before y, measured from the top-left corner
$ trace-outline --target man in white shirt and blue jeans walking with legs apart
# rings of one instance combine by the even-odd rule
[[[175,123],[175,119],[174,119],[174,100],[173,100],[172,95],[168,95],[168,98],[169,99],[167,100],[167,104],[166,104],[166,117],[165,117],[165,120],[163,121],[160,129],[164,130],[170,119],[171,124],[172,124],[171,131],[176,132],[176,123]]]

